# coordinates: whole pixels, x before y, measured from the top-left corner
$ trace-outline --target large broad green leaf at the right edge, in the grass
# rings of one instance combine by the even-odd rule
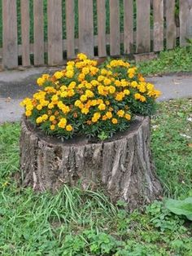
[[[183,201],[168,199],[165,207],[173,214],[185,215],[186,218],[192,220],[192,197],[185,198]]]

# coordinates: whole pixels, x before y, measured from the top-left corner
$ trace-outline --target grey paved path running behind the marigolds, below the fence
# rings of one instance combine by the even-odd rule
[[[37,77],[41,73],[50,73],[58,68],[30,68],[24,71],[0,72],[0,123],[20,121],[24,108],[20,101],[33,95],[39,89]],[[147,81],[155,84],[163,92],[159,100],[192,98],[192,73],[166,75],[164,77],[148,77]]]

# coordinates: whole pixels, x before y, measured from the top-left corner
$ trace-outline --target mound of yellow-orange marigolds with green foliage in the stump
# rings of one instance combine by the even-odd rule
[[[41,90],[21,103],[25,115],[50,135],[107,137],[126,130],[135,114],[150,115],[159,90],[124,60],[96,60],[77,55],[65,69],[37,79]]]

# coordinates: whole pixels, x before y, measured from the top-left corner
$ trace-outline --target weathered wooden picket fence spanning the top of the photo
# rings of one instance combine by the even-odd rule
[[[4,68],[59,65],[76,52],[105,57],[162,51],[174,48],[177,38],[180,46],[192,38],[192,0],[179,0],[179,22],[175,0],[0,2]]]

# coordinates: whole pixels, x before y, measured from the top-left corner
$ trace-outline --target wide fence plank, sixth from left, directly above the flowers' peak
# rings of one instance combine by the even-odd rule
[[[93,0],[79,0],[79,51],[94,56]]]

